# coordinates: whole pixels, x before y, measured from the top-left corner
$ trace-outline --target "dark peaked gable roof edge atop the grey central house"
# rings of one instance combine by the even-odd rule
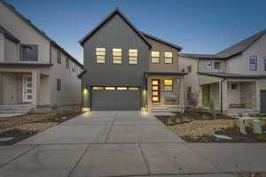
[[[152,45],[150,44],[150,42],[148,42],[146,39],[145,39],[145,36],[144,35],[142,35],[142,33],[140,33],[138,30],[137,30],[137,27],[135,27],[130,21],[129,21],[129,19],[116,7],[114,10],[113,10],[113,12],[111,12],[105,19],[103,19],[99,24],[98,24],[98,26],[97,27],[94,27],[87,35],[85,35],[79,42],[80,42],[80,44],[83,46],[83,43],[85,42],[85,41],[87,41],[89,38],[90,38],[90,36],[91,35],[93,35],[93,34],[95,34],[97,31],[98,31],[98,29],[100,28],[100,27],[103,27],[105,24],[106,24],[106,22],[109,20],[109,19],[112,19],[113,18],[113,16],[115,15],[115,14],[118,14],[118,15],[120,15],[121,16],[121,19],[124,19],[127,23],[128,23],[128,25],[129,25],[129,27],[131,27],[136,33],[137,33],[137,35],[149,46],[149,48],[151,48],[152,47]]]

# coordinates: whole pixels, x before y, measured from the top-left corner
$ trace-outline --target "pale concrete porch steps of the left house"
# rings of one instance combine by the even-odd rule
[[[30,104],[0,105],[0,113],[27,113],[34,108]]]

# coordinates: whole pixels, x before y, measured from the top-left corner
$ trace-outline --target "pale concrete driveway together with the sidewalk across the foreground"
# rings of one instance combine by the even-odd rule
[[[266,171],[266,143],[186,143],[152,114],[90,112],[0,147],[0,176],[231,177]]]

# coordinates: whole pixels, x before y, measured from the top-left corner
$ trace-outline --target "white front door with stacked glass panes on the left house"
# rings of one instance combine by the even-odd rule
[[[23,102],[32,102],[33,84],[31,75],[23,75]]]

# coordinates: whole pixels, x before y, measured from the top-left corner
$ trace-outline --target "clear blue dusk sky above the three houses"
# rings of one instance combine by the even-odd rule
[[[141,31],[214,54],[266,28],[266,0],[5,0],[81,63],[84,35],[115,7]]]

